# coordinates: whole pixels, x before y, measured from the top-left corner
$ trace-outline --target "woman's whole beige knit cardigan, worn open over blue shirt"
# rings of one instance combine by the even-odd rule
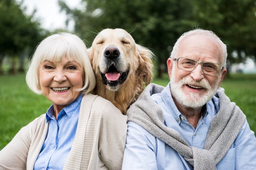
[[[83,97],[74,143],[63,169],[113,169],[122,167],[127,116],[108,100]],[[33,170],[48,131],[45,114],[23,127],[0,151],[0,169]]]

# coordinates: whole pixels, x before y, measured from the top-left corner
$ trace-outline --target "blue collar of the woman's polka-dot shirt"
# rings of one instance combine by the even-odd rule
[[[82,98],[83,98],[83,95],[79,95],[79,97],[74,102],[72,102],[68,106],[64,107],[60,111],[58,117],[63,116],[64,114],[67,114],[67,116],[70,118],[72,116],[72,114],[74,113],[74,111],[76,110],[76,108],[78,106],[80,106]],[[56,118],[54,117],[53,104],[46,111],[46,123],[48,123],[50,119],[56,120]]]

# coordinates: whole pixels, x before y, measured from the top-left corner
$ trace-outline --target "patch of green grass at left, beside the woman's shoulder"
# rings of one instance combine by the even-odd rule
[[[45,96],[29,90],[24,74],[0,76],[0,103],[0,149],[51,105]]]

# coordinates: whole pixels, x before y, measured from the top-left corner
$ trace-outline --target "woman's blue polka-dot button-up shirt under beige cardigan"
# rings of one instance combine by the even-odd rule
[[[75,138],[82,98],[83,95],[80,95],[73,103],[64,107],[57,120],[54,117],[53,105],[46,112],[46,123],[49,122],[49,127],[44,145],[35,161],[35,170],[63,169]]]

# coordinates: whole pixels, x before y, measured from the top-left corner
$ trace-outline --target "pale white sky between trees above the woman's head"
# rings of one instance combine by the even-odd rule
[[[17,0],[21,1],[21,0]],[[71,8],[79,7],[81,0],[64,0]],[[31,15],[34,9],[37,9],[36,18],[41,21],[41,26],[53,31],[57,28],[65,28],[65,12],[60,12],[58,0],[24,0],[23,6],[27,7],[26,13]],[[74,24],[68,25],[68,30],[73,31]]]

